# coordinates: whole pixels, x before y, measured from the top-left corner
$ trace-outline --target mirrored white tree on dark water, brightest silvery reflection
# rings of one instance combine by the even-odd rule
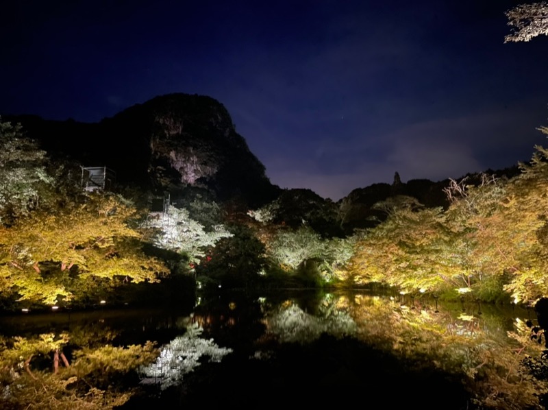
[[[195,370],[202,356],[209,357],[210,362],[220,363],[232,352],[229,348],[219,348],[213,339],[201,339],[202,332],[203,328],[197,324],[190,325],[184,335],[162,346],[158,359],[141,368],[145,376],[141,383],[159,383],[162,389],[166,389],[180,383],[185,374]]]

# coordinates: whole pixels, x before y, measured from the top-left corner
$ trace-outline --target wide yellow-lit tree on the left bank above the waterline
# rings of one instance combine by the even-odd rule
[[[19,218],[0,228],[0,286],[20,300],[54,304],[71,299],[71,282],[88,276],[154,282],[166,267],[142,253],[131,225],[137,218],[135,208],[109,193]]]

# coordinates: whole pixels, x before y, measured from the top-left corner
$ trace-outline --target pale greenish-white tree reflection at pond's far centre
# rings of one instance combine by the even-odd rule
[[[314,316],[291,304],[280,307],[266,317],[267,332],[282,342],[310,343],[322,333],[344,337],[356,333],[356,322],[345,311],[327,310],[325,315]]]

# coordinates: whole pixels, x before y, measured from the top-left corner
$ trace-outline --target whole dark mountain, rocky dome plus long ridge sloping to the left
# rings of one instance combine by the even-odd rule
[[[176,193],[206,189],[217,200],[262,204],[279,189],[219,101],[202,95],[162,95],[99,123],[14,117],[47,152],[69,154],[86,167],[116,171],[119,184]]]

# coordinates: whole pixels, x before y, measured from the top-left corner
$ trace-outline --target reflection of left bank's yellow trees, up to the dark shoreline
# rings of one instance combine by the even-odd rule
[[[145,328],[155,328],[155,336],[162,337],[167,326],[143,318],[142,312],[133,318],[131,314],[76,313],[68,322],[63,315],[18,317],[18,333],[3,323],[0,409],[112,409],[123,405],[134,394],[140,366],[158,356],[153,343],[145,341]],[[180,332],[178,324],[170,322],[169,327],[171,332]]]

